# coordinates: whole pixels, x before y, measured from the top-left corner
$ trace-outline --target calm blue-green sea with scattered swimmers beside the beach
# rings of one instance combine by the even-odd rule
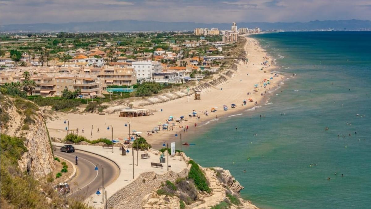
[[[268,103],[214,123],[183,150],[230,170],[260,208],[370,208],[371,32],[255,38],[289,79]]]

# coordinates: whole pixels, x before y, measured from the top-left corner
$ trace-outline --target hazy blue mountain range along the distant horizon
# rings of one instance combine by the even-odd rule
[[[194,28],[230,29],[232,23],[159,22],[141,20],[112,20],[101,22],[35,23],[1,25],[1,32],[130,32],[130,31],[181,31]],[[310,22],[241,22],[239,28],[262,30],[362,30],[371,29],[370,20],[325,20]]]

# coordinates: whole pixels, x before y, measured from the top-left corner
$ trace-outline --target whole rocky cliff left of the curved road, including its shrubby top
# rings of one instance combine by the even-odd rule
[[[19,160],[22,171],[40,179],[55,168],[43,109],[32,102],[1,94],[1,134],[24,139],[27,152]]]

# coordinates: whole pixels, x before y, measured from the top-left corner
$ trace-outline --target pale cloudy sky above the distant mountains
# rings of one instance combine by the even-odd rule
[[[371,19],[371,0],[0,0],[0,24],[308,22]]]

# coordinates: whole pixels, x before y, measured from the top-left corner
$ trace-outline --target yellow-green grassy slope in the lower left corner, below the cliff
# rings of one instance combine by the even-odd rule
[[[68,204],[70,208],[92,209],[84,203],[59,196],[52,184],[40,184],[32,175],[22,172],[18,160],[27,151],[22,139],[1,134],[0,141],[1,208],[49,209],[64,208]],[[52,199],[51,203],[46,197]]]

